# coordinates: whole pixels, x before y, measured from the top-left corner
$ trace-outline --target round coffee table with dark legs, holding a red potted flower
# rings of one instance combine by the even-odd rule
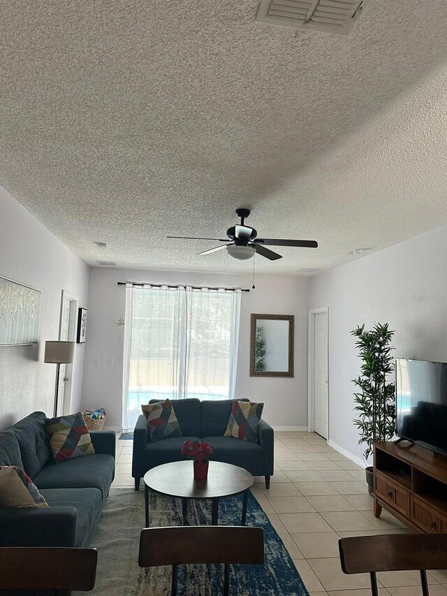
[[[176,461],[153,467],[146,472],[144,481],[146,528],[149,526],[149,488],[157,493],[182,499],[182,514],[187,525],[189,525],[188,499],[211,499],[211,525],[217,525],[219,499],[244,493],[241,525],[245,525],[249,488],[254,479],[250,472],[242,467],[210,461],[208,478],[196,480],[191,460]]]

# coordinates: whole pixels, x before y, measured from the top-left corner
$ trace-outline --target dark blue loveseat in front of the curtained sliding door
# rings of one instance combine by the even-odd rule
[[[149,403],[156,401],[151,400]],[[145,416],[141,415],[133,433],[132,476],[135,490],[139,490],[140,479],[147,470],[156,465],[182,460],[180,447],[186,439],[210,443],[214,449],[210,460],[232,463],[244,467],[254,476],[265,476],[265,486],[269,488],[270,476],[273,474],[273,429],[261,420],[257,443],[223,437],[232,405],[232,400],[175,400],[173,408],[182,436],[155,442],[151,441]]]

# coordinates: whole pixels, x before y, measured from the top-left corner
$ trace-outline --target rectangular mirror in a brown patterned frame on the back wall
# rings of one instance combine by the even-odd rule
[[[250,377],[293,377],[293,314],[251,314]]]

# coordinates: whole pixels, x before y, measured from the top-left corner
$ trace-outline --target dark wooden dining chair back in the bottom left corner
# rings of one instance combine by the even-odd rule
[[[96,578],[96,548],[47,546],[0,547],[0,593],[7,590],[51,590],[67,596],[89,592]]]

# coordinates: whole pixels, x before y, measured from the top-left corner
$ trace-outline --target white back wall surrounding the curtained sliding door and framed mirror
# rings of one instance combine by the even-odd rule
[[[122,425],[122,365],[125,289],[117,282],[183,283],[251,287],[249,276],[160,270],[91,268],[82,406],[105,407],[107,426]],[[256,290],[242,293],[236,395],[265,402],[264,418],[274,426],[307,426],[308,279],[258,276]],[[249,376],[251,313],[295,315],[295,377]],[[94,358],[100,359],[98,366]],[[113,358],[113,365],[106,365]]]

